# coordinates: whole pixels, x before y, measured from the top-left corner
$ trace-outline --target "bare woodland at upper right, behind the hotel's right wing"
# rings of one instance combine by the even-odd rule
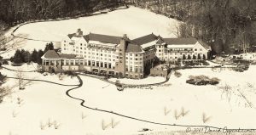
[[[184,23],[178,37],[195,37],[215,53],[240,53],[256,46],[255,0],[128,0]]]

